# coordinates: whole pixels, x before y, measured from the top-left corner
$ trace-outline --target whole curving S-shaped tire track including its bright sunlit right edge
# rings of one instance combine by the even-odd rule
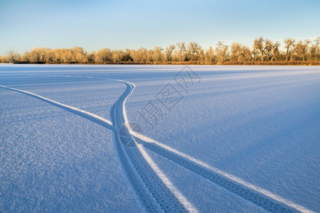
[[[135,86],[130,82],[117,81],[126,84],[127,89],[117,102],[112,105],[110,110],[115,143],[119,158],[127,173],[127,178],[146,210],[148,212],[197,212],[192,204],[176,190],[169,178],[166,178],[166,175],[161,172],[143,146],[137,144],[129,133],[124,104],[127,97],[132,94]],[[122,131],[121,137],[119,136],[120,131]],[[128,144],[128,142],[132,146],[124,145]],[[149,193],[146,193],[146,190]]]

